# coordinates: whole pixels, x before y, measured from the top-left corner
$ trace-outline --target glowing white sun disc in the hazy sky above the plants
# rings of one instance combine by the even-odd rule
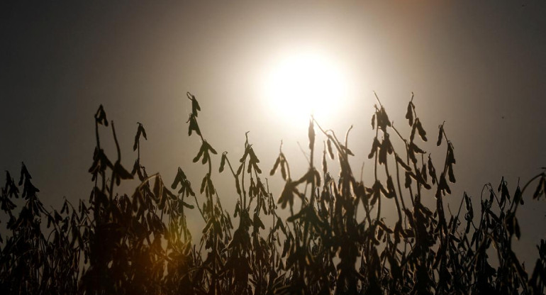
[[[346,79],[325,55],[289,55],[272,65],[265,83],[269,108],[289,124],[305,124],[311,114],[321,121],[339,116],[347,96]]]

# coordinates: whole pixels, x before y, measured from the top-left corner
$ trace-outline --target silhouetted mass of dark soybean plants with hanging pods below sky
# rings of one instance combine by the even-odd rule
[[[228,152],[218,155],[204,138],[197,120],[201,107],[195,96],[187,97],[188,135],[201,140],[193,162],[208,167],[201,196],[182,168],[170,188],[160,174],[147,174],[140,157],[141,140],[147,139],[141,123],[133,169],[125,169],[114,124],[102,106],[95,114],[96,147],[89,169],[94,186],[88,201],[74,208],[65,200],[60,211],[48,211],[24,164],[18,184],[6,172],[0,194],[8,231],[0,236],[5,294],[544,293],[545,240],[537,245],[530,273],[513,252],[512,240],[521,235],[516,212],[528,187],[537,185],[533,199],[545,196],[546,171],[523,188],[518,184],[513,194],[504,179],[496,189],[486,184],[476,215],[466,193],[455,215],[445,211],[444,198],[456,181],[455,147],[442,123],[437,145],[444,145],[446,154],[441,165],[433,164],[420,147],[428,138],[413,95],[406,113],[408,137],[395,128],[377,98],[368,155],[374,162],[374,177],[367,180],[371,186],[353,175],[351,128],[340,140],[311,118],[307,171],[291,174],[281,145],[269,172],[273,176],[280,170],[285,182],[277,201],[248,134],[242,157],[232,165]],[[100,133],[108,127],[116,145],[114,162],[101,147]],[[318,138],[323,138],[321,168],[315,164]],[[213,182],[216,157],[219,172],[233,175],[235,188],[225,194],[237,196],[236,227]],[[338,177],[330,174],[328,157],[338,160]],[[140,181],[133,194],[115,191],[133,177]],[[397,216],[388,223],[381,211],[386,199],[394,201]],[[428,208],[424,199],[435,200],[435,206]],[[286,220],[278,204],[289,208]],[[205,224],[197,243],[186,221],[186,211],[195,209]],[[498,257],[496,267],[491,253]]]

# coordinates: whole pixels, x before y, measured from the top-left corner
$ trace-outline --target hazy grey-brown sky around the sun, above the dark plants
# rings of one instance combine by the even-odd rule
[[[429,138],[446,121],[457,204],[462,191],[479,199],[501,176],[513,191],[518,177],[525,182],[546,166],[544,1],[21,2],[0,4],[0,168],[17,176],[24,161],[47,205],[89,197],[99,104],[116,123],[123,165],[133,165],[141,122],[147,171],[171,182],[180,166],[199,184],[204,167],[191,163],[199,140],[187,137],[186,91],[203,108],[204,137],[233,162],[250,130],[264,171],[280,140],[303,171],[297,143],[306,147],[306,115],[291,123],[272,109],[263,85],[279,62],[310,50],[344,77],[343,96],[330,101],[340,107],[323,125],[342,134],[354,124],[357,167],[372,143],[373,91],[406,133],[411,91]],[[443,160],[443,147],[423,147]],[[229,175],[215,177],[229,204]],[[274,194],[279,178],[269,177]],[[527,201],[518,213],[530,242],[516,247],[535,253],[546,206]]]

